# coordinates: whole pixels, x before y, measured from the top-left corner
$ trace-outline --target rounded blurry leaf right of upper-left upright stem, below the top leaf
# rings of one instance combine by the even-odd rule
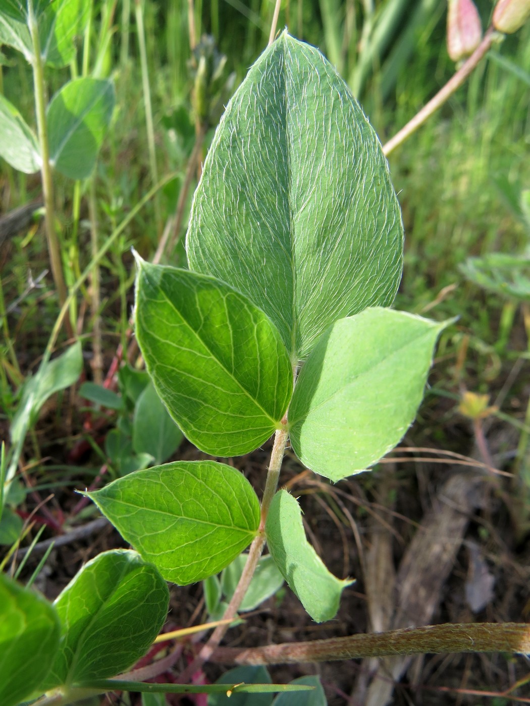
[[[113,109],[111,81],[76,78],[66,83],[47,109],[50,164],[65,177],[89,177]]]

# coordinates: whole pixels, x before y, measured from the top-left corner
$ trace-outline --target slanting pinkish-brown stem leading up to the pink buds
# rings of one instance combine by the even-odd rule
[[[410,137],[413,132],[416,132],[416,130],[423,125],[423,123],[435,111],[437,111],[437,109],[440,108],[458,88],[460,88],[473,69],[478,65],[481,59],[483,59],[483,56],[487,54],[497,36],[497,32],[495,32],[493,27],[486,30],[482,42],[478,45],[473,54],[471,54],[469,59],[464,61],[464,64],[461,65],[454,76],[452,76],[443,88],[437,92],[435,97],[431,98],[431,100],[423,106],[420,112],[416,113],[412,120],[408,121],[406,126],[401,128],[399,133],[396,133],[396,135],[394,135],[394,137],[391,138],[386,145],[383,145],[383,154],[385,156],[388,156],[390,152],[393,152],[396,147],[399,147],[401,143]]]

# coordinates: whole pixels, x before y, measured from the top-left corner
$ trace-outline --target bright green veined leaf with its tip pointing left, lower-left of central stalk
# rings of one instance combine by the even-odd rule
[[[228,566],[259,527],[249,481],[216,461],[167,463],[86,494],[167,581],[180,585]]]

